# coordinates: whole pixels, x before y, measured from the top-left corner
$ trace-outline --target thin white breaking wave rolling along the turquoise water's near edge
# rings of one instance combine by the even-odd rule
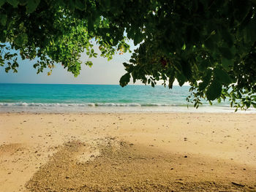
[[[187,106],[187,104],[138,104],[138,103],[26,103],[0,102],[0,107],[165,107]]]

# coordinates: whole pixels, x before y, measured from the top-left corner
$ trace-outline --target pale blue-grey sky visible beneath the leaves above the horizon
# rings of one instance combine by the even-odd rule
[[[131,44],[130,44],[131,45]],[[131,45],[131,50],[136,47]],[[94,47],[97,51],[97,47]],[[48,76],[49,69],[45,69],[44,72],[37,74],[37,69],[34,69],[33,64],[35,62],[21,59],[19,60],[18,73],[12,71],[6,73],[4,67],[0,67],[0,83],[50,83],[50,84],[103,84],[103,85],[118,85],[120,77],[126,73],[123,63],[129,61],[131,53],[124,53],[124,55],[114,55],[113,59],[108,61],[107,58],[98,56],[97,58],[90,58],[93,62],[91,68],[86,65],[82,65],[82,69],[78,77],[74,77],[71,72],[67,72],[61,64],[56,64],[56,68]],[[82,53],[81,61],[87,61],[88,55]],[[129,83],[130,85],[133,82]],[[143,85],[140,81],[135,83],[136,85]],[[157,83],[161,85],[161,82]],[[174,85],[178,85],[174,82]]]

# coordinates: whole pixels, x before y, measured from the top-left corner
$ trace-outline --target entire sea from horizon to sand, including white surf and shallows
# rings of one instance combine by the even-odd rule
[[[189,86],[0,84],[0,112],[235,112],[228,101],[197,109]],[[256,113],[255,109],[243,113]]]

